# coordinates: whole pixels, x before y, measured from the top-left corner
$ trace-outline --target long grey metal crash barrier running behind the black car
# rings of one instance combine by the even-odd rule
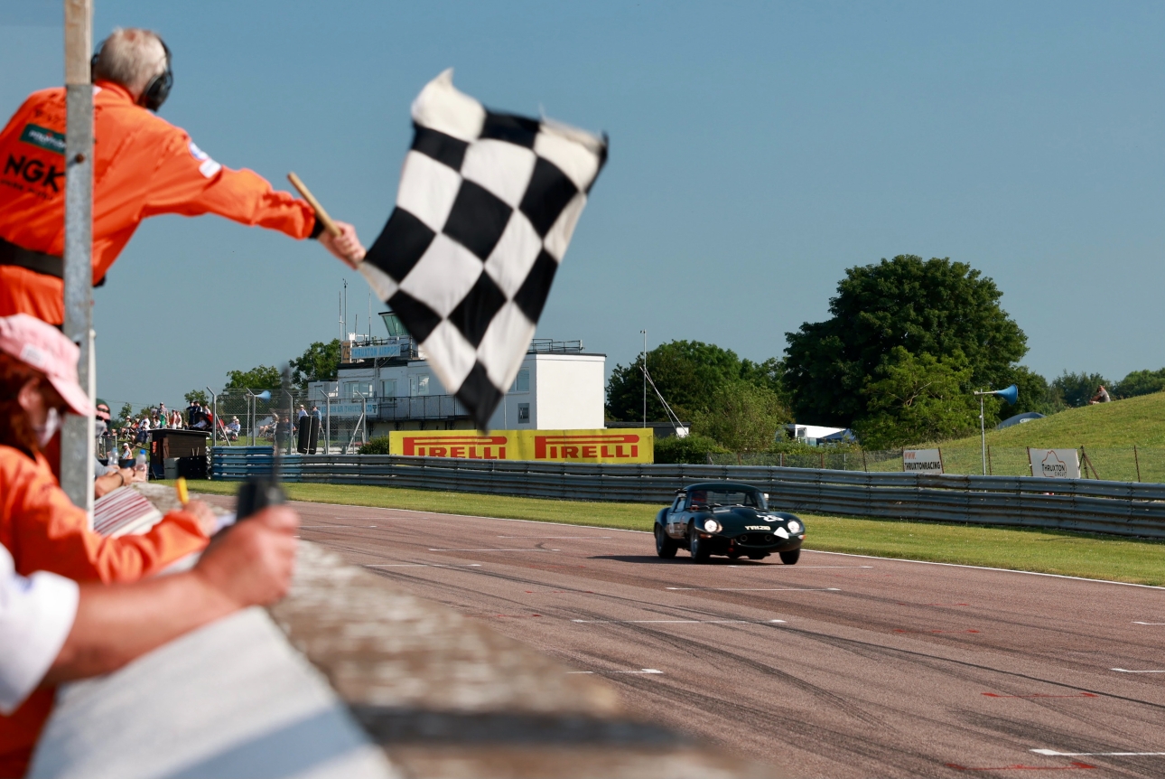
[[[269,473],[269,448],[216,448],[213,478]],[[1165,485],[1026,476],[924,476],[765,465],[610,465],[309,455],[281,459],[287,482],[369,484],[565,500],[664,504],[693,482],[753,484],[789,511],[1015,525],[1165,539]]]

